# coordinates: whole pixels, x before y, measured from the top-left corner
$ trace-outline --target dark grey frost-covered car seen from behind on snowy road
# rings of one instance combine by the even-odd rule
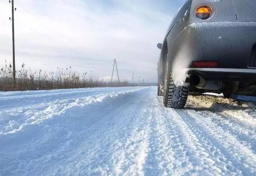
[[[188,92],[256,96],[256,1],[187,0],[158,62],[158,95],[184,108]]]

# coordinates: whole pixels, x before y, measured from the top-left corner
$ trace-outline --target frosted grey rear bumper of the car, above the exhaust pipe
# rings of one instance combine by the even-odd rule
[[[255,44],[256,22],[193,23],[168,43],[171,70],[193,68],[193,61],[246,69]]]

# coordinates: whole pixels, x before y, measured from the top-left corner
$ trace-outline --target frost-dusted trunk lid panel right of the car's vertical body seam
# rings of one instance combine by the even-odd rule
[[[232,0],[238,21],[256,21],[256,0]]]

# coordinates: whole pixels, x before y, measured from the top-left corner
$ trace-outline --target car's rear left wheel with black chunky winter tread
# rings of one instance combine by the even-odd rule
[[[167,56],[168,59],[168,56]],[[168,60],[164,80],[164,106],[167,108],[182,109],[187,102],[189,86],[175,86],[171,77]]]

